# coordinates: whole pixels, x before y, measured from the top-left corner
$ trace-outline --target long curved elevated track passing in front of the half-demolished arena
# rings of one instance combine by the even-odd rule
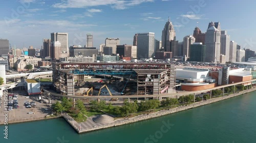
[[[223,88],[223,94],[224,94],[224,88],[226,87],[230,87],[230,86],[234,86],[234,85],[238,85],[238,84],[243,84],[243,83],[248,83],[252,81],[256,81],[256,79],[253,80],[249,80],[249,81],[243,81],[243,82],[237,82],[237,83],[231,83],[231,84],[227,84],[227,85],[221,85],[215,88],[211,88],[211,89],[206,89],[206,90],[200,90],[200,91],[191,91],[191,92],[182,92],[182,93],[167,93],[167,94],[161,94],[161,95],[123,95],[123,96],[70,96],[70,95],[61,95],[61,94],[57,94],[57,93],[52,93],[48,90],[46,90],[44,87],[41,87],[41,89],[46,92],[47,94],[50,94],[51,96],[56,96],[56,97],[69,97],[69,98],[86,98],[86,99],[104,99],[104,98],[148,98],[148,97],[170,97],[170,96],[182,96],[182,95],[188,95],[188,94],[194,94],[195,93],[203,93],[203,92],[208,92],[208,91],[212,91],[212,90],[217,90],[217,89],[222,89]],[[253,83],[254,84],[254,83]]]

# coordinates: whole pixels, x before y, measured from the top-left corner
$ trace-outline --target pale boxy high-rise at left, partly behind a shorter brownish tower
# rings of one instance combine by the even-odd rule
[[[59,41],[60,52],[59,58],[65,58],[69,56],[69,46],[68,46],[68,33],[51,33],[51,43]]]

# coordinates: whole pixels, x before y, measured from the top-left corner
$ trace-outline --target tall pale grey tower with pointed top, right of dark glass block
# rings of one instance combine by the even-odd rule
[[[221,33],[212,23],[205,33],[205,62],[219,63],[221,49]]]

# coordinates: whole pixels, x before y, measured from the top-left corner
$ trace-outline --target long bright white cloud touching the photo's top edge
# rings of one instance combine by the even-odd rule
[[[142,3],[154,2],[155,0],[62,0],[53,5],[54,8],[86,8],[95,6],[111,6],[114,9],[126,9]]]

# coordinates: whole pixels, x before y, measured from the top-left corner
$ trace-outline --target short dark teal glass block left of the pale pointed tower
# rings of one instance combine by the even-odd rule
[[[206,46],[203,43],[193,43],[190,45],[189,61],[205,62]]]

